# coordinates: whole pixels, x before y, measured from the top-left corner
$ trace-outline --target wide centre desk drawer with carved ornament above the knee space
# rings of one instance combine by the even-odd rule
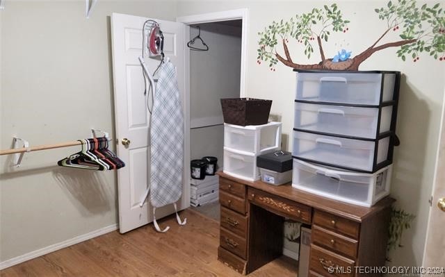
[[[277,213],[277,215],[311,224],[312,208],[307,205],[296,203],[251,187],[248,188],[248,199],[261,208]]]

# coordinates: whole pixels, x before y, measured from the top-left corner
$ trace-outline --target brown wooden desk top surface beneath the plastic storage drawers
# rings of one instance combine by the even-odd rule
[[[353,205],[333,199],[328,199],[323,196],[318,196],[316,194],[298,190],[295,187],[292,187],[290,183],[285,185],[269,185],[261,181],[250,182],[241,180],[229,176],[223,172],[218,172],[218,175],[237,183],[248,185],[249,187],[254,187],[258,190],[263,190],[264,192],[283,197],[284,199],[296,201],[298,203],[309,205],[312,208],[316,208],[317,210],[323,210],[325,212],[330,212],[331,214],[339,215],[341,217],[346,217],[348,219],[359,222],[366,219],[366,217],[373,215],[373,213],[387,208],[395,201],[395,199],[387,196],[375,203],[375,205],[373,205],[371,208],[367,208],[359,205]]]

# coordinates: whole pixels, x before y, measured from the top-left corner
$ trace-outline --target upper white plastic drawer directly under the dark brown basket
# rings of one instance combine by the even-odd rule
[[[224,124],[224,146],[238,151],[261,154],[281,146],[281,122],[238,126]]]

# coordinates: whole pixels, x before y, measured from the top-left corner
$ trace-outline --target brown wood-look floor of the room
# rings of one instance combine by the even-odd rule
[[[193,210],[121,235],[118,231],[81,242],[0,271],[12,276],[241,276],[217,260],[219,224]],[[298,262],[282,256],[248,276],[296,276]]]

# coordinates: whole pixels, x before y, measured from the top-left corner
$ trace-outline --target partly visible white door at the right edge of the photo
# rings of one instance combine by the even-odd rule
[[[445,105],[445,99],[444,99]],[[439,152],[435,170],[435,184],[432,187],[432,205],[426,246],[423,253],[423,267],[430,267],[430,276],[445,276],[445,108],[442,111],[442,131],[440,132]],[[435,269],[434,267],[442,267]]]

